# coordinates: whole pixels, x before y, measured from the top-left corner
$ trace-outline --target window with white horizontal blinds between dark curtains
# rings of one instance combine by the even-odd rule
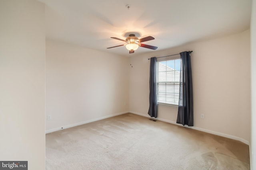
[[[157,101],[168,105],[178,105],[180,90],[180,58],[158,61]]]

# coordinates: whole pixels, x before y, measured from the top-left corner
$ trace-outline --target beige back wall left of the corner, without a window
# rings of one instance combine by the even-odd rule
[[[46,132],[127,112],[128,74],[128,57],[46,40]]]

